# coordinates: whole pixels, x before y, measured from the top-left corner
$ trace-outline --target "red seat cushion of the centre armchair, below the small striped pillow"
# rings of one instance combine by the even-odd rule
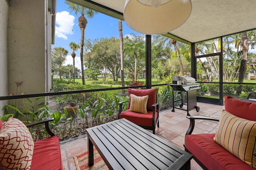
[[[156,112],[155,118],[157,118],[158,113]],[[128,109],[126,111],[123,111],[120,114],[120,119],[125,118],[128,121],[131,121],[132,123],[135,123],[136,125],[141,126],[153,126],[153,111],[148,111],[148,113],[137,113],[133,111],[129,111]]]

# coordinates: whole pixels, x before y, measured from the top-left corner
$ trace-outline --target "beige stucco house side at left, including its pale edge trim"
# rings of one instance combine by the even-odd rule
[[[56,0],[0,0],[0,96],[50,92],[55,12]]]

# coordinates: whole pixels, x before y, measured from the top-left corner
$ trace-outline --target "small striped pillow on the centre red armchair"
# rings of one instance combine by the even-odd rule
[[[134,94],[130,94],[131,104],[129,111],[134,111],[138,113],[148,113],[147,112],[147,103],[148,103],[148,95],[147,96],[136,96]]]

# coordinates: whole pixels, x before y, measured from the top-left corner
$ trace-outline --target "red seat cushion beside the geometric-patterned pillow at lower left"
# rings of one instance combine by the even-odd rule
[[[34,154],[30,170],[62,170],[58,136],[34,142]]]

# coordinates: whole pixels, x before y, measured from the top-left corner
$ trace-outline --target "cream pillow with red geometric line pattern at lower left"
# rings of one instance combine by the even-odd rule
[[[34,141],[24,123],[9,118],[0,129],[0,166],[4,170],[29,170]]]

